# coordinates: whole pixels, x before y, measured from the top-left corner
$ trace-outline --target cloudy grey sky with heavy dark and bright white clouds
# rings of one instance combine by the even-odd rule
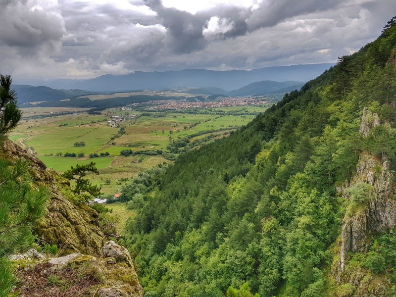
[[[0,72],[49,80],[331,63],[395,15],[396,0],[0,0]]]

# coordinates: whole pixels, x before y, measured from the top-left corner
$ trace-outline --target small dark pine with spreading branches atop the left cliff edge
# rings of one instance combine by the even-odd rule
[[[87,172],[99,174],[94,162],[85,165],[77,164],[76,167],[71,166],[71,169],[64,172],[62,176],[68,180],[76,181],[76,186],[73,189],[74,194],[82,194],[85,195],[86,198],[100,195],[100,188],[98,188],[98,186],[92,185],[88,179],[83,178],[87,175]]]

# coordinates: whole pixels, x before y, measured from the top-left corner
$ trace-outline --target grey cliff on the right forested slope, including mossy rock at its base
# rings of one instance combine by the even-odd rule
[[[360,135],[367,137],[375,126],[381,123],[378,114],[364,108]],[[367,252],[373,244],[373,237],[384,232],[393,232],[396,226],[395,177],[389,169],[389,161],[363,152],[356,173],[340,194],[348,199],[348,207],[341,232],[340,260],[333,273],[339,283],[355,288],[353,296],[366,296],[367,290],[376,292],[370,296],[388,296],[389,282],[380,276],[373,278],[362,268],[347,269],[348,252]],[[353,201],[353,189],[360,189],[358,202]]]

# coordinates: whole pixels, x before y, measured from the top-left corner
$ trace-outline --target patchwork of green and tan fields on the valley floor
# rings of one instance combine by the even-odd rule
[[[218,115],[202,114],[205,110],[196,113],[150,112],[142,116],[141,111],[124,111],[120,108],[111,108],[102,111],[101,115],[90,115],[86,108],[60,107],[29,107],[22,108],[25,118],[10,134],[10,140],[32,150],[48,167],[62,173],[77,163],[96,163],[99,175],[89,175],[92,182],[102,187],[106,195],[116,193],[127,182],[121,178],[131,178],[139,172],[147,170],[159,163],[170,162],[161,155],[156,156],[120,156],[122,149],[165,151],[170,139],[176,140],[203,133],[191,138],[191,141],[204,138],[211,134],[227,133],[235,127],[246,125],[253,115]],[[233,112],[259,112],[265,107],[236,106],[213,108],[212,110]],[[75,112],[72,114],[55,115],[59,112]],[[209,112],[209,111],[207,111]],[[113,115],[138,115],[138,118],[126,119],[119,122],[119,127],[107,126],[107,121]],[[40,117],[41,116],[41,117]],[[26,118],[27,117],[27,118]],[[124,127],[125,134],[119,134]],[[218,130],[212,132],[209,130]],[[208,133],[205,133],[208,131]],[[224,137],[224,136],[219,136]],[[84,147],[75,147],[74,143],[84,142]],[[84,157],[56,156],[58,153],[84,153]],[[90,158],[90,153],[108,152],[106,157]],[[134,160],[140,160],[139,163]],[[106,183],[110,180],[110,184]]]

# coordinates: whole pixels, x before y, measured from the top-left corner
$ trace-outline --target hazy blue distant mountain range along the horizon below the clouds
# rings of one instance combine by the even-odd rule
[[[309,64],[265,67],[252,70],[214,71],[185,69],[180,71],[142,72],[126,75],[106,74],[85,80],[23,81],[24,84],[47,86],[53,89],[79,89],[94,92],[128,91],[133,89],[164,90],[179,87],[207,88],[210,86],[226,91],[237,90],[254,82],[306,82],[317,77],[334,64]],[[14,78],[15,82],[18,82]],[[20,82],[19,82],[20,83]],[[276,91],[276,90],[275,90]]]

